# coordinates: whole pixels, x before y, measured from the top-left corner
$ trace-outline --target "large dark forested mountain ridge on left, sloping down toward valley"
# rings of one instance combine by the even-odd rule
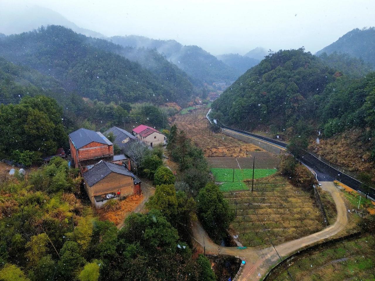
[[[176,72],[169,65],[169,69],[153,73],[90,42],[92,39],[68,28],[51,25],[2,38],[0,55],[50,75],[66,90],[91,99],[107,102],[183,102],[194,93],[194,87],[186,77],[177,73],[177,78],[173,78]]]

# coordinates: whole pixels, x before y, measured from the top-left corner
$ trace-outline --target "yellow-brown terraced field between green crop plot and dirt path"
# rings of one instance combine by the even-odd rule
[[[232,184],[232,183],[230,183]],[[247,247],[280,244],[315,233],[324,227],[314,200],[281,176],[243,183],[247,191],[225,192],[224,197],[236,209],[230,232]]]

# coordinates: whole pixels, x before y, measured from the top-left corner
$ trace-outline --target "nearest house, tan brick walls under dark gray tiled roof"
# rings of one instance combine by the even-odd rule
[[[118,164],[101,160],[82,176],[86,192],[96,208],[101,208],[110,199],[141,193],[141,181]]]

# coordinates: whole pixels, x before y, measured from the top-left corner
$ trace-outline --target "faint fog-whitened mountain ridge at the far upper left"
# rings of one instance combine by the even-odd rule
[[[7,11],[7,9],[10,8],[8,6],[0,6],[0,9],[1,8],[3,9],[3,13],[1,14],[0,32],[7,35],[31,31],[42,25],[62,25],[86,36],[105,38],[105,36],[99,32],[78,27],[74,22],[69,21],[60,13],[46,7],[17,7],[17,9],[11,11]]]

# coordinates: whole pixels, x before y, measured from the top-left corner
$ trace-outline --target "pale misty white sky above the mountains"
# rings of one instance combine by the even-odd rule
[[[375,25],[375,1],[0,0],[4,11],[39,5],[106,36],[136,34],[198,45],[214,55],[263,46],[315,53],[353,28]],[[1,21],[1,19],[0,19]]]

